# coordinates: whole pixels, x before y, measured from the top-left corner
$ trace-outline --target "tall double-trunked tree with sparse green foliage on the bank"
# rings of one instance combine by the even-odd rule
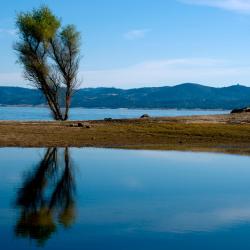
[[[79,84],[80,33],[73,25],[62,27],[46,6],[19,13],[16,26],[14,49],[25,79],[41,90],[55,120],[67,120]]]

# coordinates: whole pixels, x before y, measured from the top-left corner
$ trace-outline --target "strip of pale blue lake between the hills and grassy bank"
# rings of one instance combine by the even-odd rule
[[[143,114],[150,116],[189,116],[227,114],[223,110],[164,110],[164,109],[85,109],[72,108],[71,120],[103,120],[104,118],[138,118]],[[0,107],[0,120],[51,120],[50,112],[45,107]]]

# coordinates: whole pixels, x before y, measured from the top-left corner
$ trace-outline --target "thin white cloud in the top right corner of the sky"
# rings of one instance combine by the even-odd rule
[[[250,0],[179,0],[188,4],[206,5],[225,10],[250,13]]]

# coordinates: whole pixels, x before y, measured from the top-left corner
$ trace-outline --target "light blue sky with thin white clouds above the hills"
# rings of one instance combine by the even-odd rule
[[[1,1],[0,85],[27,86],[15,16],[41,4],[82,34],[82,87],[250,86],[250,0]]]

